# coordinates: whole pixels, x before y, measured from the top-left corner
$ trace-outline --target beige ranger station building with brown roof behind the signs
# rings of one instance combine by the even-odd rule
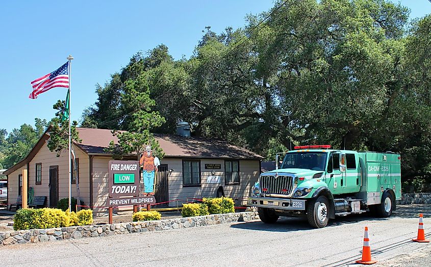
[[[232,197],[236,205],[245,205],[251,187],[258,180],[262,156],[219,139],[191,137],[187,123],[180,123],[176,135],[157,134],[165,156],[160,160],[155,196],[158,203],[186,198]],[[79,185],[85,205],[105,206],[108,199],[108,162],[106,152],[111,140],[118,139],[111,130],[78,128],[81,143],[74,143],[78,159],[79,181],[72,180],[72,196],[77,198]],[[68,197],[67,151],[57,157],[47,147],[49,131],[39,139],[29,155],[5,171],[8,176],[8,203],[16,203],[22,189],[22,169],[28,170],[28,184],[34,196],[46,196],[45,206],[57,206]],[[137,160],[136,155],[124,159]],[[176,202],[170,202],[176,206]],[[94,208],[95,215],[106,212]]]

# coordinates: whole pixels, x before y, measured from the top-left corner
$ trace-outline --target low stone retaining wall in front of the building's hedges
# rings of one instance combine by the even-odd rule
[[[62,228],[0,232],[0,246],[45,241],[93,238],[114,234],[162,231],[199,227],[219,223],[246,222],[259,219],[257,212],[214,214],[208,216],[167,219],[161,221],[116,223],[105,225],[70,226]]]

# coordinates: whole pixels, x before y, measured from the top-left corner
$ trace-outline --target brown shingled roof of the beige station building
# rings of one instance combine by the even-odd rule
[[[89,154],[109,154],[104,151],[113,140],[111,130],[77,128],[81,149]],[[235,146],[219,139],[202,137],[182,137],[179,135],[155,134],[165,157],[188,157],[188,158],[234,158],[234,159],[262,159],[263,157],[252,153],[242,147]]]

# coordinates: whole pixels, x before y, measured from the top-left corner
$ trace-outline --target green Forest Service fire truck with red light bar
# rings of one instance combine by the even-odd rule
[[[335,216],[372,212],[389,217],[401,199],[400,155],[334,150],[330,145],[295,146],[276,157],[275,170],[261,173],[248,205],[264,223],[305,216],[325,227]]]

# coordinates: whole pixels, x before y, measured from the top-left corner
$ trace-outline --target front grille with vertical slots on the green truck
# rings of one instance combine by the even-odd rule
[[[293,177],[280,175],[275,178],[273,175],[263,175],[260,177],[259,186],[262,193],[289,195],[293,189]]]

